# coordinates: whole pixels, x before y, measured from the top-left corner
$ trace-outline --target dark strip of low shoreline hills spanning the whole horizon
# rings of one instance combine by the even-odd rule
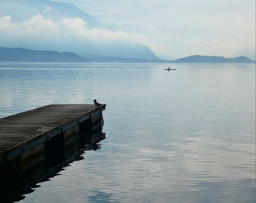
[[[145,60],[141,58],[119,58],[103,55],[80,57],[72,52],[50,50],[29,50],[24,48],[0,47],[1,62],[155,62],[155,63],[209,63],[209,64],[255,64],[246,56],[225,58],[222,56],[190,55],[184,58],[167,61],[163,59]]]

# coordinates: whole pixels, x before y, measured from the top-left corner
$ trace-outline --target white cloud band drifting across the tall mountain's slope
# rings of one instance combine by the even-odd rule
[[[124,31],[112,31],[106,28],[89,28],[86,21],[80,18],[62,18],[54,21],[44,18],[42,15],[34,15],[21,23],[14,22],[10,16],[0,17],[1,36],[0,43],[6,39],[14,42],[16,39],[61,39],[69,38],[89,40],[94,42],[129,41],[138,42],[143,40],[140,35],[126,34]]]

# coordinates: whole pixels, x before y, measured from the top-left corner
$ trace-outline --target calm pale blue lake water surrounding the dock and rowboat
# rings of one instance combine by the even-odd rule
[[[20,202],[255,202],[255,64],[0,64],[1,118],[93,99],[102,148]]]

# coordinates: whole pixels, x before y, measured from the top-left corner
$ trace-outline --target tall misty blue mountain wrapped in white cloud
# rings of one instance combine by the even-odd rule
[[[158,60],[139,39],[99,22],[73,4],[49,0],[1,0],[1,47],[69,50],[82,57]]]

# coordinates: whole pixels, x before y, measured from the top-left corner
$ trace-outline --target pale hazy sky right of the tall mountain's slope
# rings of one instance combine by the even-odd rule
[[[138,34],[159,57],[255,59],[255,0],[58,0]]]

